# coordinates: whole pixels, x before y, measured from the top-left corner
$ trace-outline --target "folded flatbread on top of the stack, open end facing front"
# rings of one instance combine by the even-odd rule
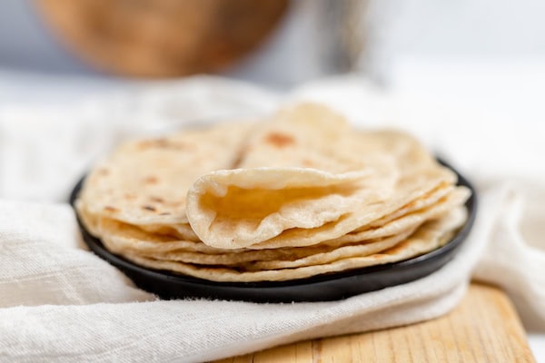
[[[221,249],[309,246],[456,181],[410,136],[352,132],[341,120],[302,104],[264,123],[240,169],[204,174],[188,191],[196,235]]]

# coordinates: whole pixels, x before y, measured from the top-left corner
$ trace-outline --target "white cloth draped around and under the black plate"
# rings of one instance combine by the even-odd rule
[[[404,127],[461,165],[478,187],[480,205],[454,260],[421,280],[342,301],[254,304],[157,300],[84,250],[64,201],[114,143],[183,123],[267,113],[301,99],[330,103],[362,126]],[[481,145],[468,140],[463,127],[403,123],[396,115],[411,113],[402,104],[359,78],[311,84],[285,99],[241,83],[196,78],[82,105],[0,108],[0,362],[231,357],[440,316],[458,303],[471,276],[507,289],[525,321],[545,329],[545,188],[539,175],[529,170],[529,181],[510,182],[501,176],[509,165],[487,169]],[[465,141],[463,152],[449,148],[456,140]],[[471,161],[464,162],[468,155]]]

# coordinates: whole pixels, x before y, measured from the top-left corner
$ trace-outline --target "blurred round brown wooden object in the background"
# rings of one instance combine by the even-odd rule
[[[217,72],[263,42],[288,0],[35,0],[85,63],[114,74]]]

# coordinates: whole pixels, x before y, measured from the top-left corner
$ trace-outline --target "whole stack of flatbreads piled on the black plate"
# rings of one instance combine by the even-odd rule
[[[136,264],[214,281],[296,280],[451,239],[470,191],[403,132],[304,103],[258,123],[125,142],[88,175],[85,228]]]

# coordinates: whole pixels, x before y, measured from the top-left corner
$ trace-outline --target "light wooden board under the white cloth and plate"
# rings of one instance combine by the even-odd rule
[[[473,283],[451,313],[408,327],[271,348],[222,363],[535,362],[520,319],[500,289]]]

